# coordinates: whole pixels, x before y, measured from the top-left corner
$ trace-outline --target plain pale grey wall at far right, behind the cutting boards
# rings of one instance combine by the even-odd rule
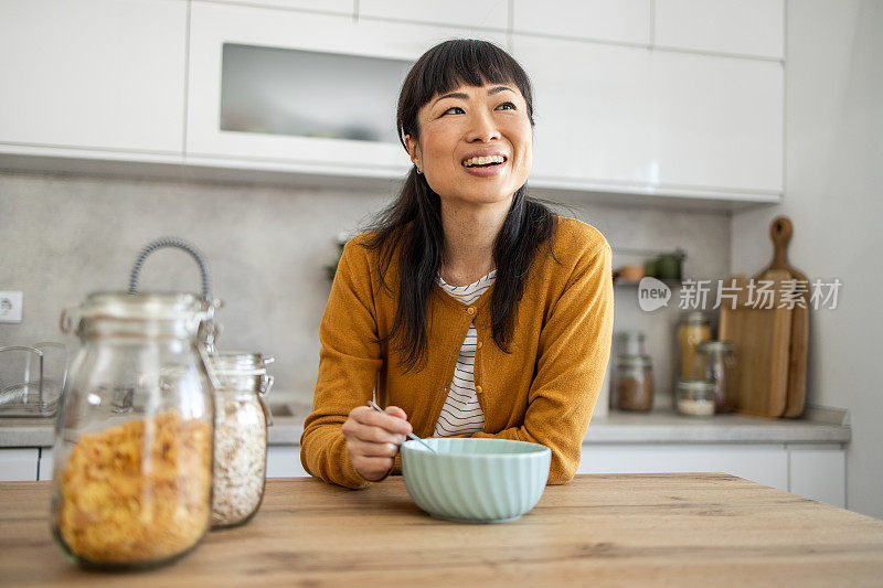
[[[733,218],[733,270],[770,257],[768,227],[788,215],[789,257],[810,281],[839,278],[836,310],[810,314],[809,402],[847,408],[847,506],[883,517],[883,2],[787,6],[786,195]]]

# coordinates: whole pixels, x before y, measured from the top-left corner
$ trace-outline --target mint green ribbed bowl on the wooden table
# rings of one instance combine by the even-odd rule
[[[549,481],[552,451],[508,439],[432,438],[402,443],[402,474],[417,506],[437,518],[501,523],[533,509]]]

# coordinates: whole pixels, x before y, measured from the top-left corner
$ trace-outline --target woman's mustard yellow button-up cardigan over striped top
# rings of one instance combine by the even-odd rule
[[[475,321],[475,383],[485,428],[471,437],[542,443],[552,449],[549,483],[568,482],[579,464],[610,353],[611,254],[600,232],[558,217],[552,244],[560,265],[546,255],[545,246],[538,253],[518,304],[509,354],[493,342],[490,328],[494,286],[467,306],[436,284],[426,313],[426,364],[409,373],[400,367],[394,345],[372,343],[390,332],[397,301],[381,288],[377,254],[364,246],[366,235],[344,247],[319,328],[319,375],[300,438],[304,468],[348,488],[371,483],[353,468],[341,425],[375,391],[382,407],[405,410],[415,435],[432,436],[460,346]],[[394,256],[386,284],[395,287],[397,276]],[[401,473],[398,458],[391,471]]]

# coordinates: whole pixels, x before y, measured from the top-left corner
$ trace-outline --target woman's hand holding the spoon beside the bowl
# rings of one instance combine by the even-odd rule
[[[407,415],[397,406],[387,406],[385,414],[357,406],[341,427],[355,471],[371,481],[382,479],[392,469],[398,446],[411,430]]]

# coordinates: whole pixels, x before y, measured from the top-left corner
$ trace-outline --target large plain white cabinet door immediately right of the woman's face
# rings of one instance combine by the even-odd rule
[[[513,35],[534,90],[532,184],[655,181],[647,50]]]

